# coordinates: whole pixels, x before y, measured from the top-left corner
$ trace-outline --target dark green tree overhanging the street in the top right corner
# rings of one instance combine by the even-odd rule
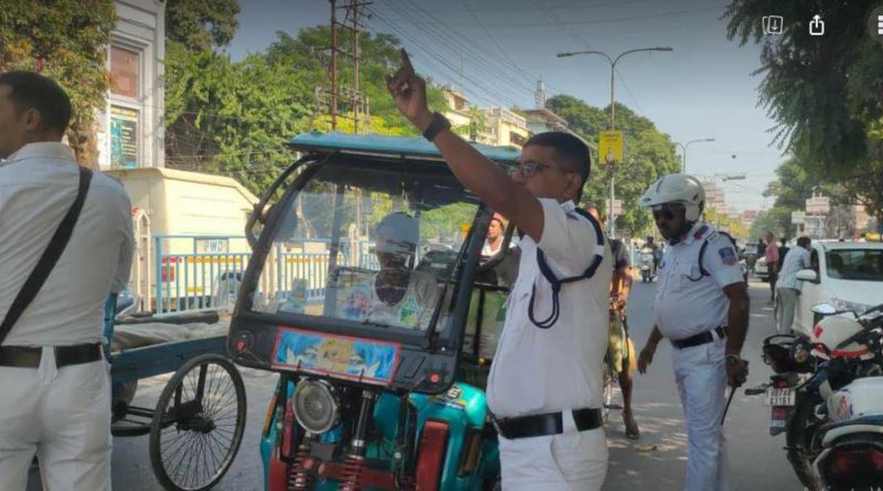
[[[775,141],[820,180],[842,184],[849,201],[883,217],[883,50],[866,34],[873,0],[734,0],[727,35],[763,42],[760,103],[778,122]],[[763,15],[785,19],[784,34],[765,36]],[[825,36],[806,22],[821,14]],[[880,221],[880,220],[877,220]]]

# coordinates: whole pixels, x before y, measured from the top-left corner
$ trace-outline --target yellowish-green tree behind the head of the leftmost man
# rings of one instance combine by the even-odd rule
[[[105,107],[105,68],[116,22],[110,0],[10,0],[0,9],[0,71],[40,71],[71,97],[67,141],[77,161],[97,166],[95,116]]]

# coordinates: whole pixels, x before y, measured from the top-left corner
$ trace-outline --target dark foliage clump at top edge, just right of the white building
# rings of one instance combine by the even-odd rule
[[[240,10],[236,0],[168,0],[166,39],[191,51],[226,46],[238,28]]]

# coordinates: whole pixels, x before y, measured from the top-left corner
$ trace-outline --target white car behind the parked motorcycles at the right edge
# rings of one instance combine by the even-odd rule
[[[811,261],[812,269],[797,274],[795,333],[812,331],[818,322],[810,310],[815,305],[861,313],[883,303],[883,243],[813,242]]]

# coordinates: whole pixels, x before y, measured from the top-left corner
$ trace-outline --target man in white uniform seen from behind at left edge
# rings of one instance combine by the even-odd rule
[[[81,170],[61,142],[70,118],[71,102],[51,79],[0,75],[0,320],[78,196]],[[46,489],[110,489],[102,331],[108,293],[129,277],[131,205],[105,175],[83,188],[70,241],[0,343],[0,490],[25,488],[34,453]]]

